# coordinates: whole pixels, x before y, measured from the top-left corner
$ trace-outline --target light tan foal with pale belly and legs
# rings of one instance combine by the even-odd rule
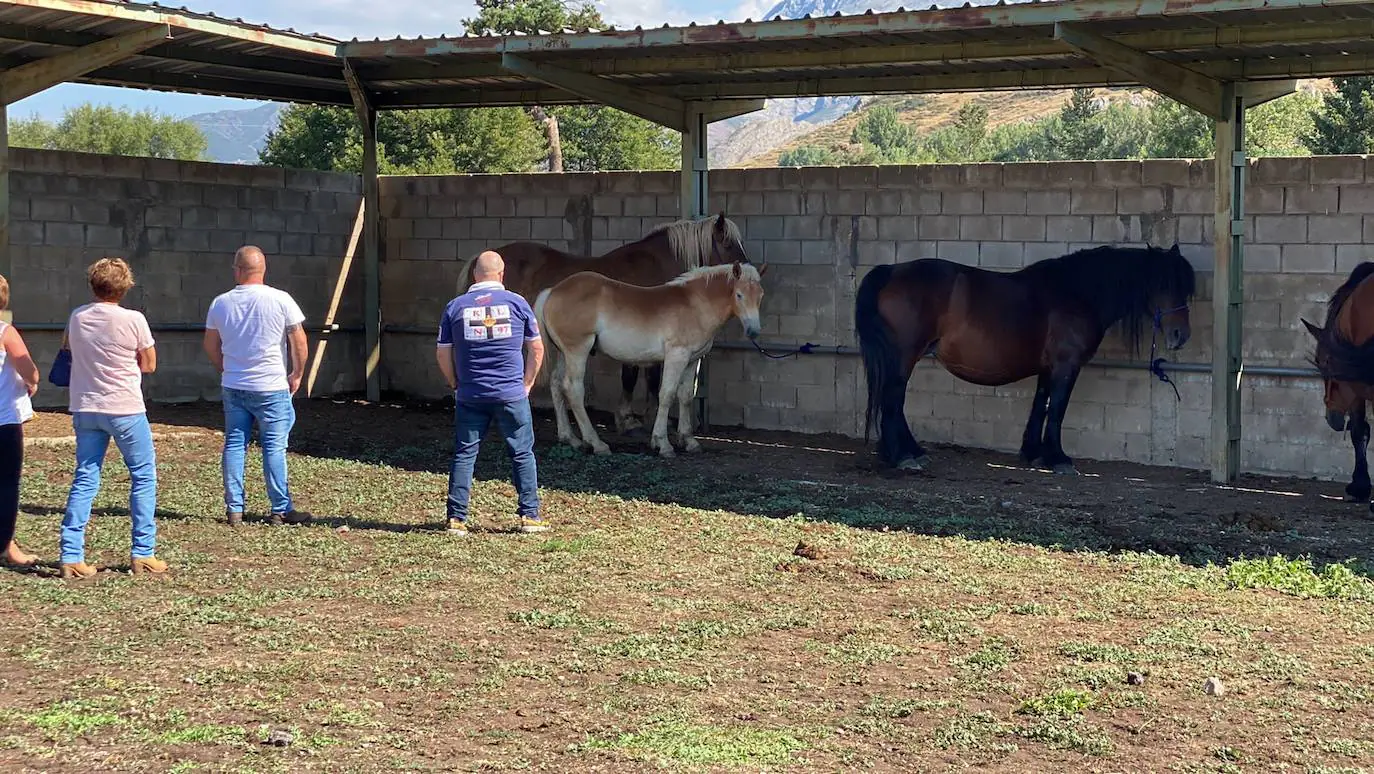
[[[584,379],[587,357],[595,346],[605,355],[636,366],[661,364],[664,379],[649,448],[675,456],[668,440],[668,410],[677,393],[677,434],[683,451],[701,444],[692,436],[691,399],[695,397],[694,366],[710,349],[716,331],[731,316],[745,334],[758,338],[760,282],[768,264],[701,267],[654,287],[639,287],[594,272],[578,272],[539,294],[534,318],[544,338],[554,342],[554,414],[558,440],[573,448],[587,445],[610,454],[587,417]],[[567,403],[583,440],[567,423]]]

